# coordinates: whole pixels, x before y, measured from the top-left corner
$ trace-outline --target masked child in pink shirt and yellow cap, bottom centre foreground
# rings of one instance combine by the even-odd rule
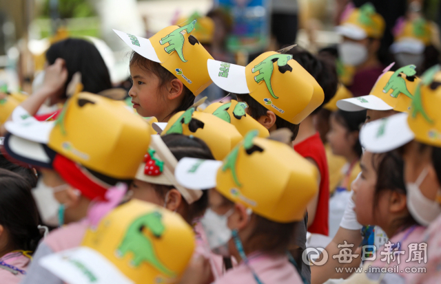
[[[294,222],[318,190],[317,171],[290,145],[256,135],[250,131],[224,162],[184,158],[176,179],[212,188],[203,222],[210,246],[239,262],[216,284],[302,283],[287,250]]]

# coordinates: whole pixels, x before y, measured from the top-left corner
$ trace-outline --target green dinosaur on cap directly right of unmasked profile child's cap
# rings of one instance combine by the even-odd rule
[[[288,64],[288,61],[292,59],[292,55],[289,54],[274,54],[265,58],[262,62],[258,63],[258,65],[254,66],[252,69],[252,73],[259,72],[257,76],[254,76],[254,80],[256,83],[260,83],[260,81],[265,81],[267,85],[269,94],[273,96],[273,98],[278,98],[274,94],[273,87],[271,86],[271,76],[274,72],[274,61],[277,61],[278,67],[285,66]]]

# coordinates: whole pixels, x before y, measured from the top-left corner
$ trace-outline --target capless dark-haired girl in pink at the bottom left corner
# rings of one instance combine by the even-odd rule
[[[41,234],[30,184],[17,173],[0,168],[0,278],[19,283]]]

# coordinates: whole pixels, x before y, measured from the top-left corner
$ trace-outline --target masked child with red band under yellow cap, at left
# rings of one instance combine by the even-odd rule
[[[149,125],[123,102],[88,93],[70,98],[54,122],[38,122],[20,107],[12,118],[5,150],[41,168],[43,186],[33,195],[43,221],[70,223],[45,238],[34,256],[38,260],[79,245],[92,200],[105,200],[117,182],[134,179],[150,142]],[[34,261],[23,283],[60,280]]]

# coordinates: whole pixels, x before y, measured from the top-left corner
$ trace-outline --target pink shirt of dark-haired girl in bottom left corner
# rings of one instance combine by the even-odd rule
[[[7,265],[17,267],[17,269],[22,270],[23,272],[25,272],[28,264],[30,263],[30,259],[27,256],[24,256],[21,252],[10,252],[5,254],[0,258],[0,261],[6,263]],[[13,273],[0,267],[0,279],[2,284],[20,283],[24,276],[25,274],[21,272]]]

